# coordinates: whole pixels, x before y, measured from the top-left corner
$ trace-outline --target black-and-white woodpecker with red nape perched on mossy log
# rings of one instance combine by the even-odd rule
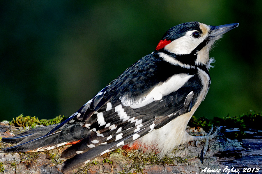
[[[68,119],[2,138],[17,143],[3,151],[45,151],[74,142],[61,154],[66,173],[122,146],[161,158],[195,140],[185,129],[209,89],[209,51],[238,25],[187,22],[170,28],[153,53],[132,64]]]

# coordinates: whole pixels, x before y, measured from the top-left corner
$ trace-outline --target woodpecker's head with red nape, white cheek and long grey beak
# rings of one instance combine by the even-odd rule
[[[167,54],[166,61],[185,65],[208,65],[211,46],[238,23],[210,26],[200,22],[187,22],[170,28],[155,51]],[[171,55],[171,56],[170,56]],[[174,59],[174,60],[172,60]]]

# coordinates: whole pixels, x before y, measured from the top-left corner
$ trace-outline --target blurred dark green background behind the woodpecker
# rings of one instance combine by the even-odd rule
[[[0,121],[70,116],[171,27],[240,23],[211,51],[196,116],[262,111],[262,1],[1,1]]]

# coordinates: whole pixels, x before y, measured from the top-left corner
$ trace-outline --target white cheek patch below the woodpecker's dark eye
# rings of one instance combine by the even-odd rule
[[[200,36],[199,38],[192,37],[194,31],[187,31],[184,36],[173,40],[164,47],[165,50],[177,55],[190,54],[206,38],[205,36]]]

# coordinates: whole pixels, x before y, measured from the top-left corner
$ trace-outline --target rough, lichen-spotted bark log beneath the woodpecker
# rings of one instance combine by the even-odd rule
[[[23,129],[0,122],[0,137],[12,136],[24,131]],[[189,128],[188,131],[205,134],[204,131],[194,128]],[[127,152],[120,148],[94,159],[86,166],[70,171],[68,174],[262,173],[262,131],[250,130],[246,133],[250,135],[250,138],[242,139],[242,141],[231,140],[220,133],[210,141],[203,164],[200,162],[203,143],[199,143],[196,147],[194,142],[189,142],[177,147],[163,159],[157,159],[154,154],[143,154],[139,151]],[[1,148],[7,146],[10,144],[0,143]],[[62,174],[62,161],[59,157],[65,148],[67,147],[62,146],[39,153],[0,153],[0,174]],[[245,167],[247,171],[243,172]],[[206,171],[203,171],[205,168]],[[210,168],[209,172],[208,168]],[[226,170],[232,168],[231,171]],[[220,172],[215,172],[216,169],[217,171],[220,169]]]

